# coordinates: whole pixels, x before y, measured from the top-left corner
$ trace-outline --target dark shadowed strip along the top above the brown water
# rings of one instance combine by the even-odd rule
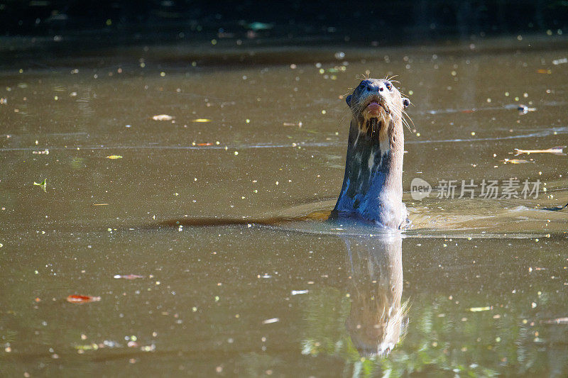
[[[106,42],[246,36],[422,43],[564,29],[568,1],[0,1],[2,35],[92,33]],[[253,24],[254,22],[263,24]]]

